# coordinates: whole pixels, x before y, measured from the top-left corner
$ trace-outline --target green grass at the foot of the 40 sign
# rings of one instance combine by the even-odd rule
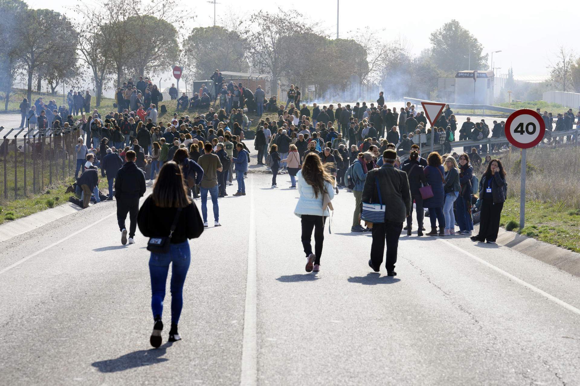
[[[501,226],[510,221],[519,224],[520,199],[508,198],[503,204]],[[548,242],[561,248],[580,253],[580,209],[566,208],[564,205],[527,201],[525,203],[525,227],[514,231],[536,240]]]

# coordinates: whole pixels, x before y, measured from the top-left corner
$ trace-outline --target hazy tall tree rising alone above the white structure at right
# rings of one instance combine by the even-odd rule
[[[457,20],[445,23],[430,38],[433,61],[443,71],[487,69],[487,54],[483,46]]]

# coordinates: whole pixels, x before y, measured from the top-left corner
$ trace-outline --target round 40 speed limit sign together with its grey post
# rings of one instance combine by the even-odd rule
[[[507,117],[505,135],[516,148],[521,149],[520,172],[520,229],[525,226],[525,172],[527,170],[526,150],[538,145],[546,132],[542,116],[534,110],[520,109]]]

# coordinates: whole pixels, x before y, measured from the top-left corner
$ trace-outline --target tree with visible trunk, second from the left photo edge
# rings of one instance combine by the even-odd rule
[[[26,64],[28,75],[28,100],[32,97],[32,77],[46,64],[58,64],[59,57],[54,47],[46,41],[46,31],[56,36],[68,35],[73,25],[66,16],[49,9],[28,9],[20,19],[19,28],[14,30],[14,39],[21,43],[19,52]]]

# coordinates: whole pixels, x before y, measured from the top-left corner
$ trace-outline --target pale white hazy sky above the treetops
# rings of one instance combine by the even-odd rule
[[[49,8],[75,17],[71,8],[75,0],[25,0],[30,8]],[[213,4],[206,0],[184,3],[194,8],[194,21],[190,28],[213,25]],[[527,5],[523,1],[488,0],[479,2],[434,2],[403,1],[383,2],[340,1],[339,28],[340,38],[348,38],[348,32],[369,25],[385,29],[386,41],[403,36],[411,44],[414,54],[429,48],[429,35],[451,19],[456,19],[483,44],[484,53],[501,50],[494,54],[498,73],[506,73],[513,66],[515,76],[548,75],[549,59],[557,47],[565,45],[575,48],[578,36],[578,18],[575,16],[575,3],[564,0],[557,9],[550,9],[549,3]],[[293,17],[295,12],[305,14],[313,21],[321,23],[324,31],[336,36],[336,0],[218,0],[216,6],[218,21],[220,14],[233,14],[247,17],[252,12],[263,9],[277,12],[278,7]],[[561,10],[568,10],[562,17]],[[219,24],[219,22],[218,22]],[[186,31],[180,31],[186,32]],[[189,31],[187,31],[189,32]],[[490,63],[491,68],[491,63]]]

